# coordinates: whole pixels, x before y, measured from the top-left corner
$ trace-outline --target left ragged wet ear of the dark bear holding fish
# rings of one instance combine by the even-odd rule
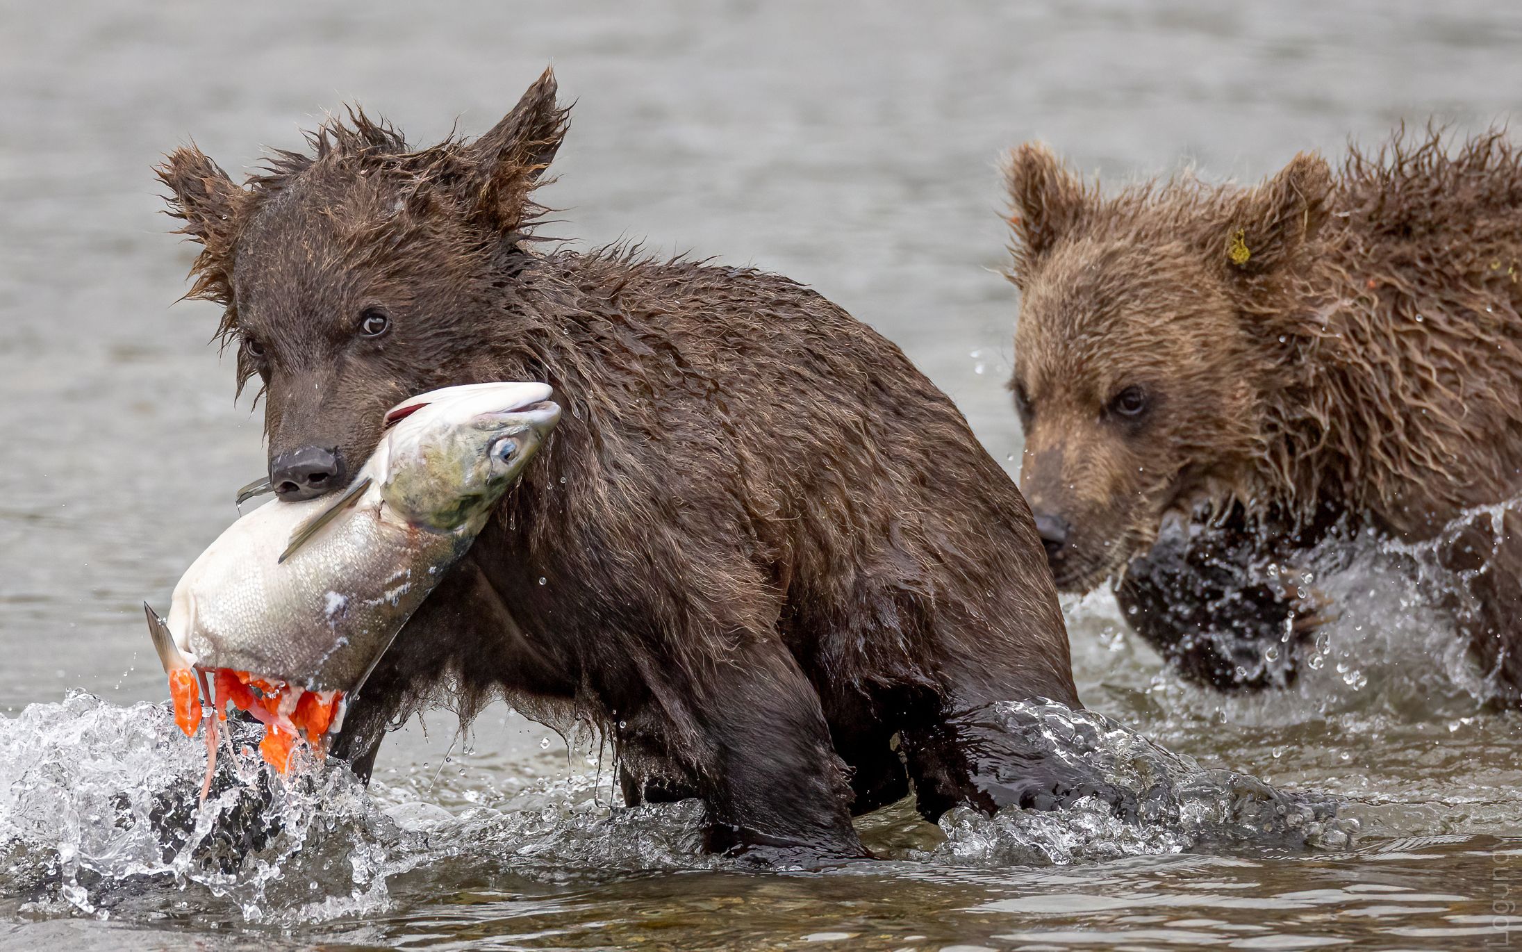
[[[233,242],[248,192],[193,145],[170,152],[154,172],[169,186],[169,216],[184,222],[175,233],[201,242],[187,297],[230,303]]]

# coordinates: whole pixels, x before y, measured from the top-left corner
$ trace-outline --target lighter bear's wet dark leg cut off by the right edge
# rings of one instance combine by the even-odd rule
[[[1493,678],[1496,699],[1516,707],[1522,702],[1522,513],[1476,518],[1447,542],[1441,559],[1457,576],[1460,631]]]

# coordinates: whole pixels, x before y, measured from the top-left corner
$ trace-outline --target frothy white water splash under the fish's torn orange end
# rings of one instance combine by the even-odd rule
[[[256,725],[231,728],[234,748],[257,743]],[[204,746],[163,705],[75,693],[0,719],[0,896],[108,917],[154,909],[169,891],[245,922],[303,918],[335,897],[385,906],[403,833],[347,769],[288,783],[251,752],[225,760],[198,804]]]

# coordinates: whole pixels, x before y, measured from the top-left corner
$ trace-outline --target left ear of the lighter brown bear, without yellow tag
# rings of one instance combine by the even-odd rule
[[[1084,183],[1040,142],[1009,152],[1005,186],[1009,189],[1009,227],[1015,232],[1012,277],[1023,288],[1036,262],[1078,224],[1090,196]]]

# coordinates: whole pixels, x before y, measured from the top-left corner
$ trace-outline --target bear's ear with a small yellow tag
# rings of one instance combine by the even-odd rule
[[[1332,169],[1326,158],[1300,152],[1242,196],[1210,253],[1239,274],[1283,268],[1317,236],[1330,195]]]

